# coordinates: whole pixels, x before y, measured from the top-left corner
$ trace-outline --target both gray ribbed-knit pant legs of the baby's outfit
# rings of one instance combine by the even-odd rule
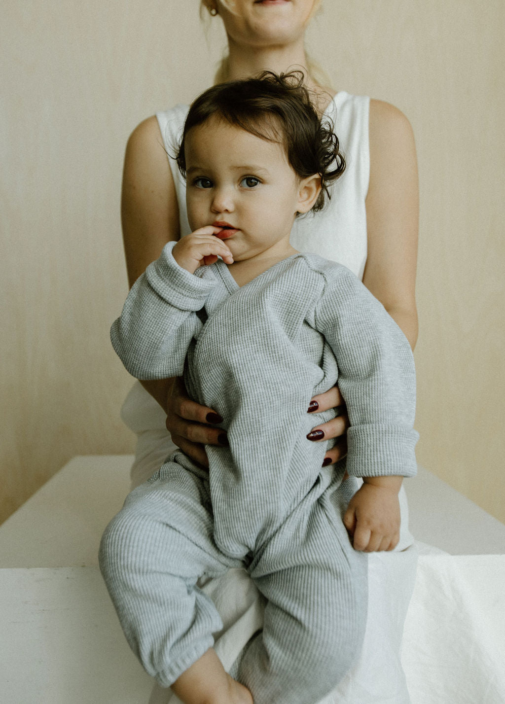
[[[222,627],[197,580],[245,567],[267,605],[234,676],[255,704],[317,702],[359,655],[365,629],[366,555],[342,523],[354,481],[323,469],[281,527],[237,560],[214,541],[206,473],[180,452],[171,459],[127,496],[101,541],[101,572],[130,647],[170,686]]]

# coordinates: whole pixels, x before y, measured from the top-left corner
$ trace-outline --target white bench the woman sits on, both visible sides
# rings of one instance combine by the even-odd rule
[[[151,679],[127,647],[97,567],[101,533],[129,489],[131,460],[76,457],[1,525],[2,702],[149,700]],[[449,553],[420,557],[402,658],[412,703],[503,704],[505,525],[425,470],[406,487],[413,534]],[[457,615],[449,613],[456,602]],[[448,657],[462,633],[472,647],[460,641]],[[423,658],[431,672],[420,669]]]

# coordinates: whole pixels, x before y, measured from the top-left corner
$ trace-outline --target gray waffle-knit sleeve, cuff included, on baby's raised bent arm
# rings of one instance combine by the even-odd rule
[[[111,341],[128,372],[137,379],[181,376],[192,338],[202,323],[196,312],[204,307],[216,279],[182,269],[168,242],[133,284],[120,318],[111,327]]]

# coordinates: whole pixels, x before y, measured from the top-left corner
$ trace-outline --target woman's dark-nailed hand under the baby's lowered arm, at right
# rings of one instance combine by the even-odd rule
[[[332,389],[325,391],[324,394],[314,396],[308,406],[308,413],[329,410],[330,408],[337,408],[339,415],[326,423],[316,425],[307,435],[307,439],[313,442],[337,438],[335,446],[326,451],[323,467],[334,465],[347,455],[346,432],[349,427],[349,417],[347,416],[347,408],[338,386],[333,386]]]

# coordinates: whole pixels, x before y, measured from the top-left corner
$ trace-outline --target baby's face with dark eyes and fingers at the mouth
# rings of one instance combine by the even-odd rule
[[[300,180],[280,144],[208,120],[185,138],[187,215],[192,230],[223,227],[235,261],[283,243],[300,202]]]

